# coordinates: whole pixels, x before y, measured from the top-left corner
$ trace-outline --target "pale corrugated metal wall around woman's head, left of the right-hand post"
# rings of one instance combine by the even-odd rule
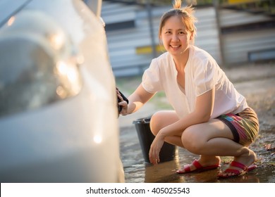
[[[171,9],[171,6],[154,7],[152,10],[155,44],[159,44],[159,20],[161,15],[169,9]],[[221,54],[214,8],[199,8],[195,12],[195,16],[199,21],[196,25],[195,45],[207,50],[219,62]],[[106,23],[106,27],[118,21],[135,20],[135,27],[109,30],[106,35],[114,75],[116,77],[140,75],[149,66],[153,58],[152,53],[137,53],[138,47],[151,46],[152,44],[146,8],[104,2],[102,18]]]

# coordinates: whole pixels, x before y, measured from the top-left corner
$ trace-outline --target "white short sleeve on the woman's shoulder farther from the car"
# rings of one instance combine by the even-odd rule
[[[218,81],[215,75],[215,64],[215,62],[207,58],[197,63],[194,72],[196,96],[200,96],[215,87]]]

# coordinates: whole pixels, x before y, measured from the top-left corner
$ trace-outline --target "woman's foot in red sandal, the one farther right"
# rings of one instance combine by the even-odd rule
[[[227,178],[239,176],[250,170],[254,170],[257,166],[252,164],[255,163],[257,156],[253,151],[250,149],[248,150],[248,153],[241,155],[238,158],[235,157],[231,165],[226,170],[224,170],[224,172],[220,172],[218,177]]]

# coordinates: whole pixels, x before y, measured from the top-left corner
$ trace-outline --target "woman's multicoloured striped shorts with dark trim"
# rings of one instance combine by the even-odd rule
[[[252,108],[245,108],[237,114],[220,115],[216,119],[224,122],[231,129],[234,141],[244,146],[251,144],[259,132],[259,120]]]

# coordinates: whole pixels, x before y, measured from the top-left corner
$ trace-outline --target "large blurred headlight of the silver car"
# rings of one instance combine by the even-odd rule
[[[78,94],[82,61],[48,15],[23,11],[12,16],[0,29],[0,116]]]

